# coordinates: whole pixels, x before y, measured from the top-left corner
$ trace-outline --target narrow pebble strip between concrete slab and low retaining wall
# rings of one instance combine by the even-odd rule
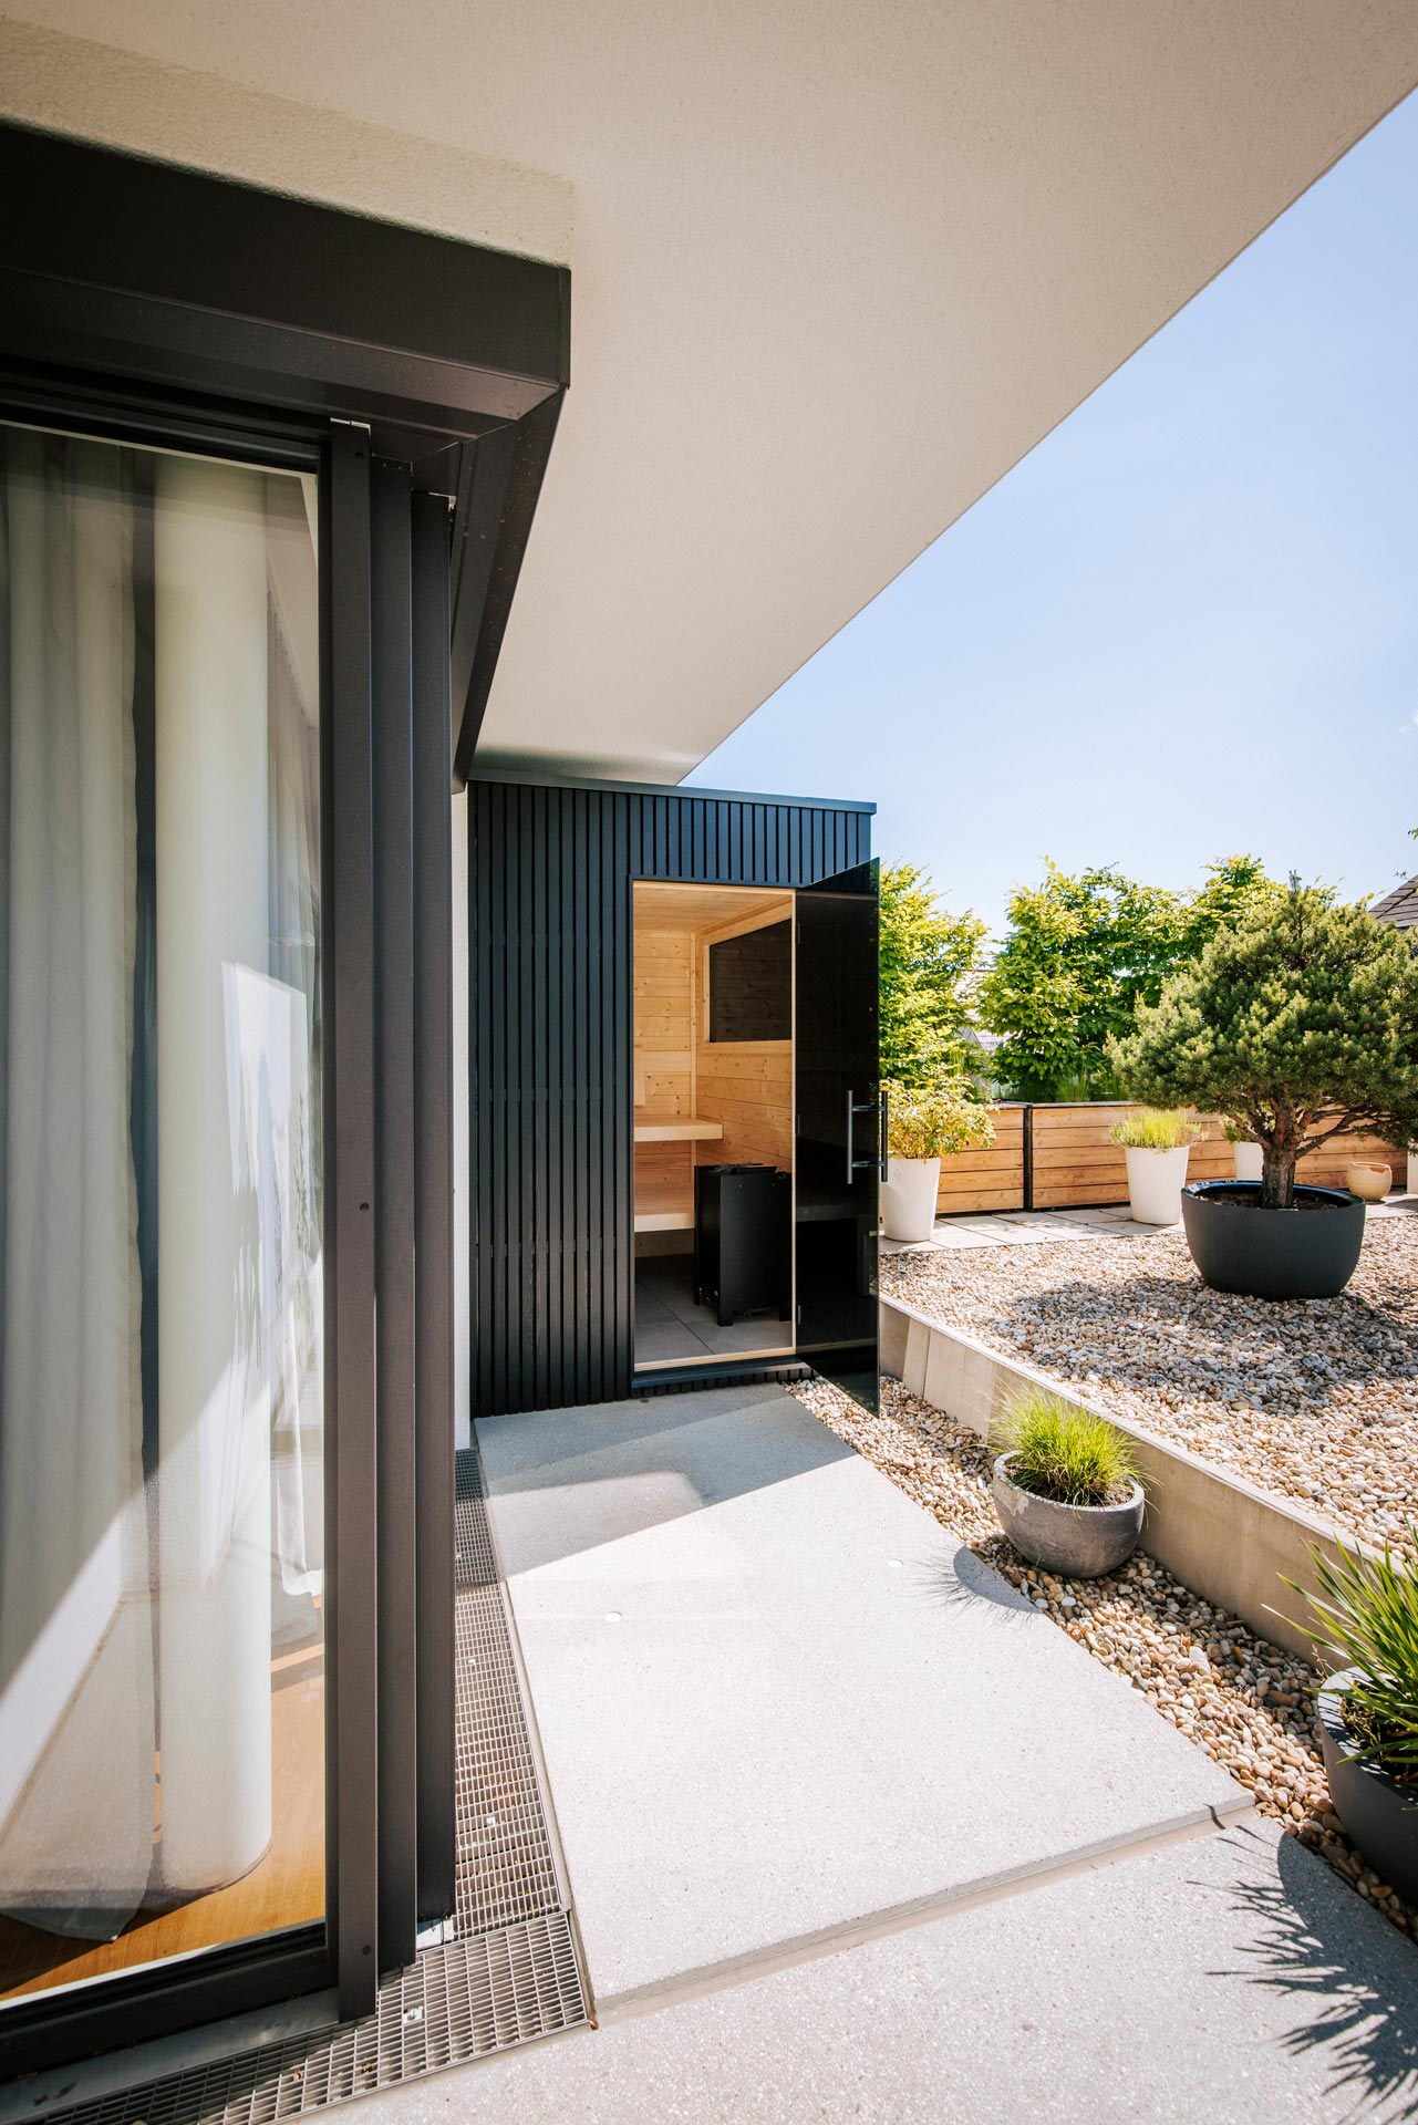
[[[1303,1662],[1256,1638],[1225,1609],[1197,1600],[1150,1558],[1133,1556],[1108,1579],[1054,1579],[1025,1564],[999,1532],[984,1443],[897,1381],[882,1381],[878,1415],[821,1379],[791,1392],[897,1490],[1029,1594],[1069,1638],[1125,1674],[1163,1719],[1254,1794],[1263,1815],[1284,1823],[1418,1942],[1418,1910],[1378,1878],[1331,1813],[1310,1687],[1314,1672]]]

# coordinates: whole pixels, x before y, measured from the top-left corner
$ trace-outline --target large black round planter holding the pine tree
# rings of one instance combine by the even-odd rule
[[[1322,1209],[1261,1209],[1254,1182],[1191,1182],[1182,1224],[1201,1281],[1244,1298],[1333,1298],[1354,1275],[1365,1207],[1348,1188],[1297,1188]]]

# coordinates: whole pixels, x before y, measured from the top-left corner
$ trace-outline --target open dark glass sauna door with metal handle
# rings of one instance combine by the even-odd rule
[[[878,865],[797,892],[797,1356],[876,1405]]]

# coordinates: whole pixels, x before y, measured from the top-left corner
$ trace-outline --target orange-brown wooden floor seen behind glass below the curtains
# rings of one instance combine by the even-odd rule
[[[43,1934],[0,1915],[0,2000],[79,1985],[140,1964],[308,1925],[325,1910],[325,1649],[276,1653],[272,1687],[272,1840],[240,1881],[162,1912],[140,1910],[100,1944]],[[157,1836],[157,1834],[155,1834]]]

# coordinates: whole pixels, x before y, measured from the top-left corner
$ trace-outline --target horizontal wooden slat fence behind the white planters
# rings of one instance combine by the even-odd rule
[[[1127,1203],[1127,1160],[1110,1128],[1135,1107],[1127,1101],[991,1107],[995,1141],[986,1152],[955,1152],[940,1162],[935,1213],[959,1216],[993,1209],[1082,1209]],[[1193,1145],[1186,1177],[1231,1179],[1231,1145],[1218,1116],[1199,1116],[1205,1135]],[[1335,1137],[1301,1160],[1299,1177],[1341,1188],[1354,1158],[1392,1167],[1403,1186],[1405,1154],[1375,1137]],[[1031,1182],[1031,1186],[1029,1186]]]

